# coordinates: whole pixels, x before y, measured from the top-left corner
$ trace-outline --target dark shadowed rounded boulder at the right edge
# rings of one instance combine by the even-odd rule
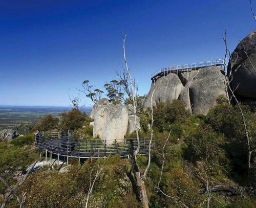
[[[256,98],[256,30],[248,34],[230,56],[227,74],[232,74],[236,95]]]

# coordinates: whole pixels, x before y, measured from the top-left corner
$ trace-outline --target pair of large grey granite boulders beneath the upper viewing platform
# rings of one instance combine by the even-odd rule
[[[220,95],[226,96],[223,73],[222,68],[211,66],[160,77],[155,81],[155,87],[152,83],[144,109],[150,107],[150,99],[155,89],[153,105],[180,99],[191,113],[207,114],[216,105],[216,99]]]

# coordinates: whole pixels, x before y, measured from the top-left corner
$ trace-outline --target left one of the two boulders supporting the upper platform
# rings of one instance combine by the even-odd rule
[[[147,94],[147,99],[144,103],[144,109],[151,107],[151,97],[154,89],[153,106],[158,103],[172,102],[178,99],[183,88],[184,86],[177,74],[170,73],[165,77],[158,78],[155,81],[155,85],[152,82],[150,91]]]

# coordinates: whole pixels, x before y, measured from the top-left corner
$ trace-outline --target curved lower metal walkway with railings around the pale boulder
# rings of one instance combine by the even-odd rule
[[[120,154],[121,157],[128,157],[131,149],[131,140],[133,142],[133,149],[138,147],[137,138],[126,138],[123,142],[112,141],[112,144],[106,144],[102,140],[84,140],[82,142],[74,139],[74,134],[51,133],[50,136],[39,136],[35,138],[35,146],[46,150],[52,154],[59,156],[80,158],[98,158],[108,156],[109,154]],[[110,141],[108,141],[110,143]],[[150,145],[150,138],[140,138],[140,154],[148,154]]]

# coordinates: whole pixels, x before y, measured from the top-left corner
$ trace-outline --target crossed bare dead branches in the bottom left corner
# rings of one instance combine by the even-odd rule
[[[5,184],[5,186],[7,186],[9,192],[6,194],[5,196],[5,199],[4,199],[4,202],[1,206],[1,208],[5,208],[6,206],[6,203],[8,201],[8,198],[13,194],[17,200],[18,200],[18,203],[19,203],[19,208],[23,208],[24,207],[24,203],[25,203],[25,200],[26,200],[26,192],[23,193],[23,196],[22,196],[22,199],[20,199],[20,197],[16,194],[16,190],[21,187],[23,185],[23,183],[25,182],[25,180],[28,178],[28,175],[29,173],[33,170],[35,164],[37,163],[37,160],[33,163],[33,165],[29,168],[29,170],[27,171],[26,175],[24,176],[24,178],[22,179],[22,181],[20,181],[17,186],[15,186],[14,188],[11,188],[9,186],[9,184],[6,182],[6,180],[4,178],[2,178],[0,176],[0,180]]]

